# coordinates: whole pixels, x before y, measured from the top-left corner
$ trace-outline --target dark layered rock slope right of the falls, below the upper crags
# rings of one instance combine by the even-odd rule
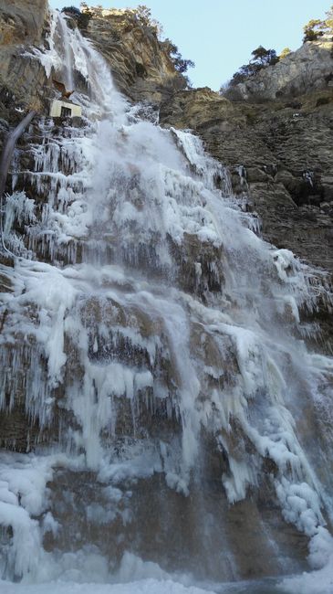
[[[248,195],[265,239],[333,271],[332,106],[329,91],[250,104],[187,90],[161,106],[161,122],[192,128],[231,168],[234,191]]]

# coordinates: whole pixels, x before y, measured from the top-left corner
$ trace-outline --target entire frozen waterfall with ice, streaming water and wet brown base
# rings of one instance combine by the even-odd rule
[[[2,577],[327,571],[333,360],[304,315],[325,273],[260,239],[199,138],[139,117],[52,18],[34,56],[84,117],[39,119],[6,198]]]

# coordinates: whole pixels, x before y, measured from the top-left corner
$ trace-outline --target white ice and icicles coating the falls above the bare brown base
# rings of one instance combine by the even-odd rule
[[[331,480],[317,478],[297,418],[316,400],[329,414],[333,362],[307,351],[304,336],[317,329],[299,317],[324,300],[325,277],[316,283],[289,251],[260,239],[224,167],[193,134],[140,119],[63,16],[35,57],[48,74],[67,64],[63,77],[70,84],[79,73],[87,94],[73,96],[81,127],[38,122],[34,171],[19,175],[39,201],[15,191],[18,173],[6,200],[5,241],[20,257],[2,294],[0,406],[7,414],[24,394],[40,440],[50,437],[39,449],[35,439],[34,454],[1,457],[0,524],[12,531],[5,575],[57,575],[42,546],[61,530],[47,499],[54,468],[96,472],[115,507],[121,481],[156,472],[187,496],[203,431],[228,459],[230,504],[260,484],[264,459],[274,462],[282,514],[311,539],[313,567],[324,566]],[[173,420],[173,435],[145,427],[156,411],[161,424]],[[229,439],[234,419],[252,444],[241,455]],[[130,436],[121,457],[110,445],[120,434]]]

